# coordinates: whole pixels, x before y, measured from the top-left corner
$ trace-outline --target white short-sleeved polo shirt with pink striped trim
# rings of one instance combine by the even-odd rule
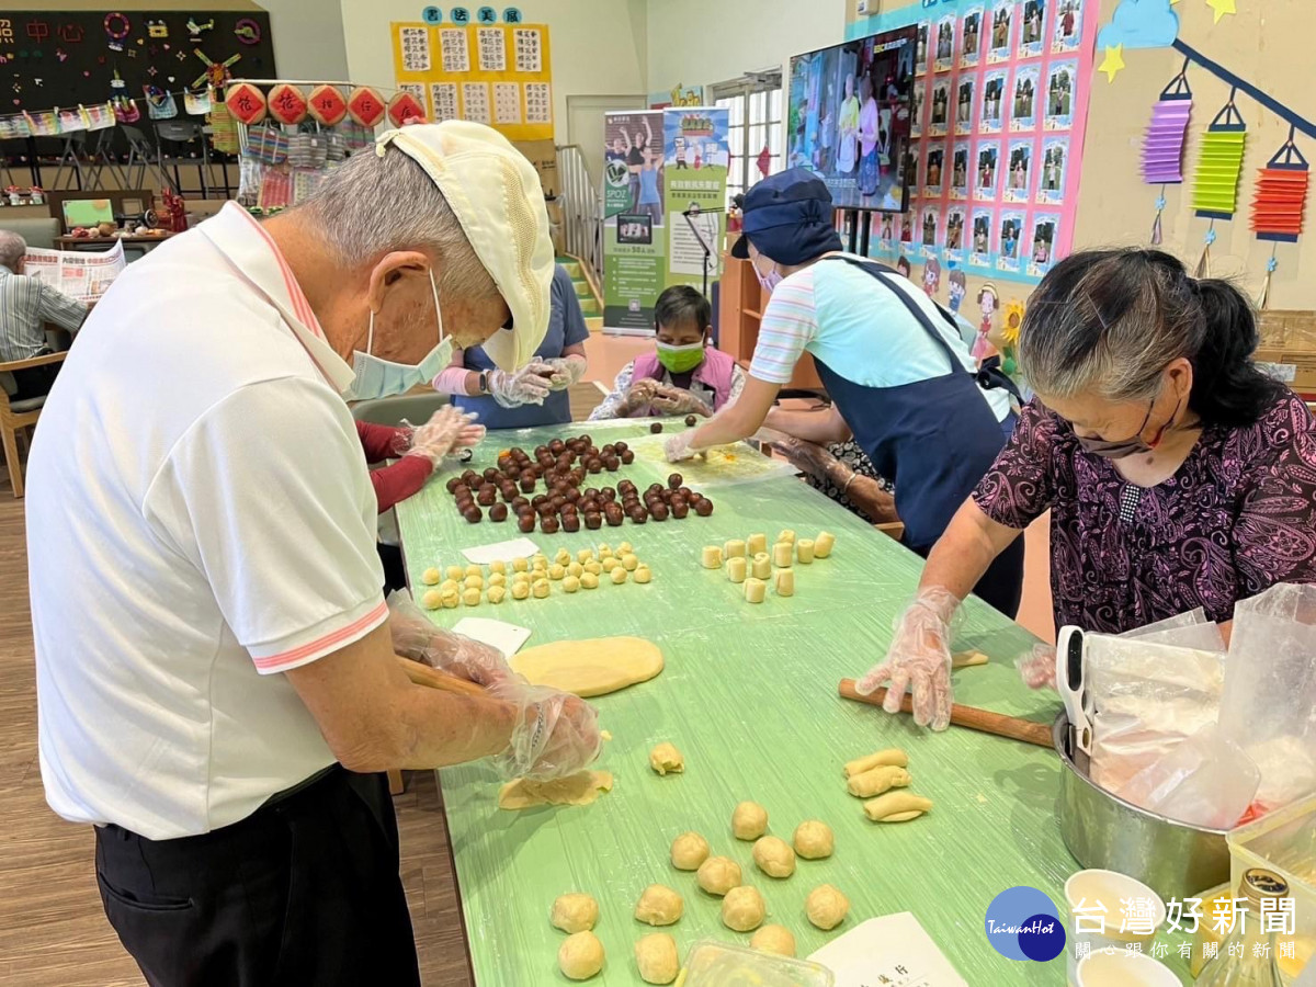
[[[29,462],[41,774],[64,819],[192,836],[333,763],[279,672],[387,619],[350,378],[236,205],[87,320]]]

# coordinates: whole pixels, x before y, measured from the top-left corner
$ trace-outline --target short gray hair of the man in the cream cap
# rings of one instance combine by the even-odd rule
[[[441,262],[441,291],[461,286],[476,297],[497,295],[443,193],[395,147],[383,157],[374,147],[353,154],[296,212],[343,265],[374,263],[393,250],[424,250]]]

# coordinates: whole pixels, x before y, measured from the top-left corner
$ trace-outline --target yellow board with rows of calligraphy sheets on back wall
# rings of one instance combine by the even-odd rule
[[[545,24],[391,25],[397,88],[429,120],[487,124],[509,141],[553,139]]]

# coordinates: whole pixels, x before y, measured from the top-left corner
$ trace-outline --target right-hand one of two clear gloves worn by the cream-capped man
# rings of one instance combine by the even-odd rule
[[[599,757],[599,717],[583,699],[517,682],[494,686],[490,695],[516,709],[512,742],[494,758],[505,778],[563,778]]]

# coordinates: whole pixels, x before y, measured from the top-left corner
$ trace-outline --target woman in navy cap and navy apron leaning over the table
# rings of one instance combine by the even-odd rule
[[[1015,426],[1005,379],[976,371],[955,317],[890,267],[841,250],[832,196],[805,168],[745,195],[745,236],[732,250],[771,292],[736,404],[667,443],[679,461],[736,442],[767,424],[811,441],[790,412],[772,408],[805,351],[845,426],[895,483],[904,544],[926,555],[991,467]],[[975,587],[1013,617],[1023,541],[1001,553]]]

